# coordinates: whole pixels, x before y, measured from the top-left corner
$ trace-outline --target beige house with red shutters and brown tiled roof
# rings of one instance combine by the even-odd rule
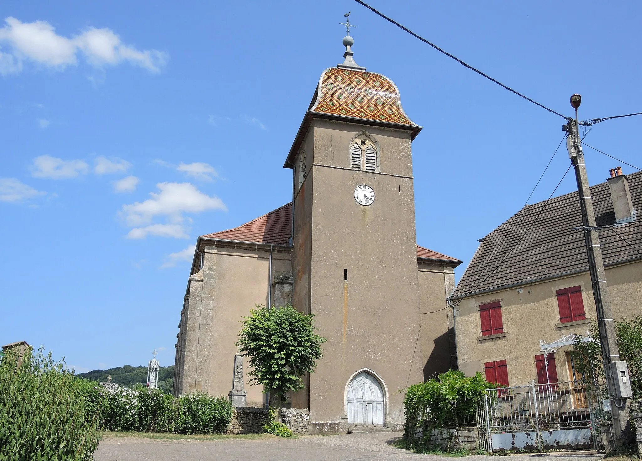
[[[642,315],[642,172],[611,170],[591,187],[615,320]],[[548,203],[547,203],[548,202]],[[587,335],[596,310],[576,193],[526,205],[480,239],[449,297],[457,361],[507,386],[581,378],[571,335]],[[547,347],[547,344],[559,347]]]

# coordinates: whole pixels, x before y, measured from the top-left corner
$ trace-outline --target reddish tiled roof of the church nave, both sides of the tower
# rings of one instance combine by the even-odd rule
[[[277,208],[270,213],[259,216],[256,220],[234,227],[234,229],[221,230],[214,234],[202,235],[200,238],[263,243],[267,245],[290,246],[290,229],[292,226],[292,202]],[[435,261],[448,261],[461,263],[459,259],[437,253],[428,248],[417,245],[417,257]]]

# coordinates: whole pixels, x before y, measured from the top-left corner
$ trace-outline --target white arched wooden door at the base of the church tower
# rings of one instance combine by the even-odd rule
[[[371,374],[363,371],[352,379],[346,403],[348,424],[383,425],[383,391]]]

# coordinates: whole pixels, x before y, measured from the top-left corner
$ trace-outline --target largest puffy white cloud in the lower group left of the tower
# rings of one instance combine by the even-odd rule
[[[201,213],[208,210],[227,211],[217,196],[209,196],[189,182],[159,182],[159,193],[150,192],[152,198],[144,202],[123,205],[122,214],[128,225],[152,222],[155,216],[167,216],[171,222],[180,223],[183,213]]]

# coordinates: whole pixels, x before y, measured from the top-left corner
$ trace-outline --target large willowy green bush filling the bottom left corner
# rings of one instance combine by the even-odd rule
[[[44,349],[20,363],[9,351],[0,364],[0,461],[92,460],[98,415],[89,409],[73,371]]]

